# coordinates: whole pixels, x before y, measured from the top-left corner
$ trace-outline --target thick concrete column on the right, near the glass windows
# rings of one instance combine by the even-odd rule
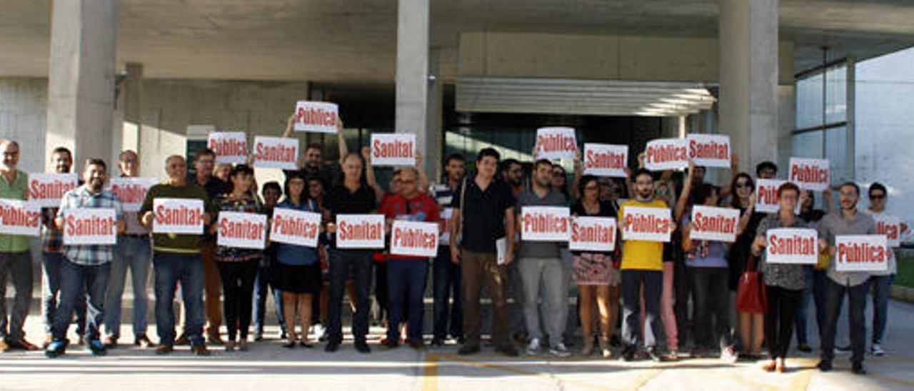
[[[778,0],[720,2],[720,132],[739,169],[778,160]],[[786,168],[786,167],[784,167]]]

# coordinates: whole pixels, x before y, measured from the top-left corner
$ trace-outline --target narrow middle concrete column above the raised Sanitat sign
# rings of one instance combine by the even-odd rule
[[[429,84],[429,0],[398,0],[396,132],[415,133],[417,149],[426,147]],[[426,169],[430,162],[425,159]]]

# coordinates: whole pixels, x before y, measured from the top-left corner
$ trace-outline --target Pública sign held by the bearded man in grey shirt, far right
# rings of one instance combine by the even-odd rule
[[[837,271],[886,271],[891,257],[885,235],[838,235],[834,237],[834,269]]]

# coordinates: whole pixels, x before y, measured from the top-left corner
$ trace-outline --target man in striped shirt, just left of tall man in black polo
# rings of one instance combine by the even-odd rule
[[[432,346],[443,345],[449,333],[457,343],[463,343],[462,275],[460,265],[451,261],[450,245],[455,238],[450,232],[450,220],[453,215],[453,198],[459,196],[455,191],[463,179],[465,166],[466,161],[462,155],[453,153],[448,156],[444,162],[444,172],[447,173],[444,183],[431,187],[435,200],[438,201],[439,214],[444,220],[444,229],[447,229],[439,238],[438,257],[435,257],[431,271],[434,295]],[[453,304],[449,305],[451,298]]]

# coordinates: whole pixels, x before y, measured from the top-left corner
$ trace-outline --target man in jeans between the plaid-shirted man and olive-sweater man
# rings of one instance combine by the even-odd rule
[[[136,177],[140,172],[140,159],[135,152],[123,151],[118,157],[122,177]],[[133,344],[142,348],[154,345],[146,336],[146,314],[149,312],[149,271],[152,265],[149,247],[149,228],[143,227],[136,212],[124,212],[125,230],[117,238],[114,248],[112,273],[105,298],[105,346],[117,347],[121,336],[121,304],[123,286],[130,269],[133,285]]]

